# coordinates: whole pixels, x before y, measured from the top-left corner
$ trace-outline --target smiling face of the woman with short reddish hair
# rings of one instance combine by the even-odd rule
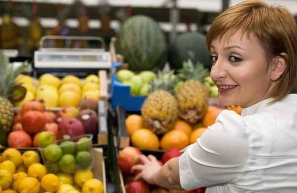
[[[272,70],[264,49],[251,34],[238,31],[211,42],[213,65],[210,76],[219,89],[221,104],[251,106],[263,99],[273,85]]]

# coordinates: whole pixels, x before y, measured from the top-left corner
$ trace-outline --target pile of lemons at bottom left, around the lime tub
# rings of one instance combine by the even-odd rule
[[[0,193],[104,193],[103,184],[91,170],[74,175],[47,173],[33,150],[23,155],[15,148],[0,156]]]

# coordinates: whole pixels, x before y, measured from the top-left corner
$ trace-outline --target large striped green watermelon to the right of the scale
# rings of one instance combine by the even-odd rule
[[[167,42],[158,24],[148,16],[127,19],[116,35],[116,52],[129,69],[140,72],[162,69],[167,61]]]

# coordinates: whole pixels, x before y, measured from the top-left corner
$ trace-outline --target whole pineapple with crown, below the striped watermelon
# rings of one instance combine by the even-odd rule
[[[178,119],[177,101],[173,96],[176,83],[176,78],[172,79],[169,75],[163,79],[159,72],[158,78],[151,82],[150,93],[142,106],[144,127],[157,135],[170,131]]]

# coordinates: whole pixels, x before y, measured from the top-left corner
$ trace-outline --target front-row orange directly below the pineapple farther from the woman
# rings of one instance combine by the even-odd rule
[[[148,129],[139,129],[132,134],[131,144],[138,148],[159,149],[160,142],[156,134]]]

